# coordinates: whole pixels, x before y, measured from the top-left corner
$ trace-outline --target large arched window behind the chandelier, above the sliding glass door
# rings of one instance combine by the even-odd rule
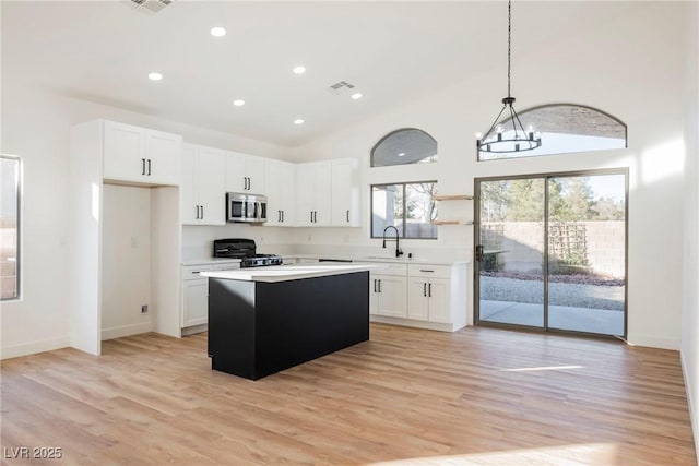
[[[505,154],[478,151],[478,160],[627,147],[626,124],[592,107],[574,104],[543,105],[524,110],[519,117],[525,129],[533,126],[541,133],[541,147]],[[500,124],[506,129],[511,128],[510,118],[503,119]],[[507,131],[503,134],[507,135]]]

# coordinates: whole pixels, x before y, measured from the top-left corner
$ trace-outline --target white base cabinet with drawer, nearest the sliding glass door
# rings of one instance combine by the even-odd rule
[[[450,323],[451,267],[443,265],[408,266],[407,318]]]

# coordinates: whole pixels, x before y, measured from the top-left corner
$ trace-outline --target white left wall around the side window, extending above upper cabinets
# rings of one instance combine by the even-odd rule
[[[70,345],[69,152],[73,124],[106,118],[182,134],[188,142],[286,158],[289,151],[2,80],[0,151],[24,163],[22,299],[3,302],[2,358]]]

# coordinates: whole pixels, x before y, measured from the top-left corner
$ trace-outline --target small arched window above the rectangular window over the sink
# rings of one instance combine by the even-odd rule
[[[437,162],[437,141],[423,130],[403,128],[384,135],[371,150],[371,166]]]

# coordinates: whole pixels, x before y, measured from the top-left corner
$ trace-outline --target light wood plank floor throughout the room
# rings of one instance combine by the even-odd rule
[[[372,325],[370,342],[257,382],[206,335],[2,362],[10,447],[90,465],[695,465],[677,353],[556,335]]]

